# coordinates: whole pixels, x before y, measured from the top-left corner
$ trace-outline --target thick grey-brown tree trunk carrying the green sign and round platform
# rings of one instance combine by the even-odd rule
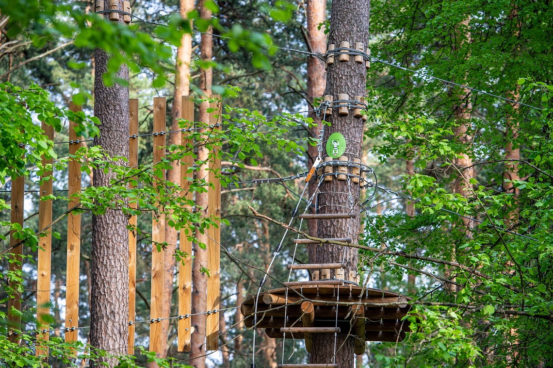
[[[348,41],[354,48],[356,42],[362,42],[366,47],[369,38],[370,9],[370,0],[333,1],[328,43],[340,45],[340,42]],[[356,63],[353,59],[353,56],[350,56],[349,61],[340,63],[336,57],[335,63],[328,66],[326,94],[334,96],[335,100],[337,100],[338,94],[348,94],[352,100],[354,96],[365,96],[367,71],[364,63]],[[344,155],[349,160],[362,159],[363,120],[354,117],[352,109],[349,110],[347,116],[339,116],[337,109],[332,109],[332,112],[332,117],[328,119],[332,126],[325,129],[324,142],[328,140],[331,133],[340,132],[346,138],[347,146]],[[351,196],[349,195],[350,190]],[[319,229],[317,229],[318,236],[321,238],[351,237],[352,241],[357,243],[359,234],[359,185],[336,179],[323,183],[319,196],[320,213],[348,212],[351,207],[357,215],[354,219],[320,220]],[[317,248],[315,259],[317,263],[342,262],[344,260],[347,264],[345,274],[349,274],[350,270],[356,270],[357,249],[322,245]],[[315,334],[311,363],[333,362],[334,344],[332,334]],[[338,334],[336,364],[340,368],[353,368],[354,361],[353,339],[348,339],[347,333]]]

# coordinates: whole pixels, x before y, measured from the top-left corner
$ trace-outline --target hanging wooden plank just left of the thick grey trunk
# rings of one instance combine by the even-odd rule
[[[69,110],[81,111],[82,107],[72,101],[69,103]],[[69,154],[75,154],[82,147],[81,137],[75,132],[76,124],[69,122]],[[69,161],[69,179],[67,197],[69,198],[68,208],[72,209],[79,205],[80,200],[73,198],[75,194],[81,193],[81,162],[76,159]],[[67,216],[67,273],[65,291],[65,328],[70,330],[65,333],[65,341],[77,341],[77,329],[79,326],[79,267],[81,261],[81,215],[71,212]]]

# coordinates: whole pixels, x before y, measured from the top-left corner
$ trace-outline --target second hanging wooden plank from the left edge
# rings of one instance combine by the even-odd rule
[[[42,129],[44,135],[54,140],[54,127],[42,122]],[[42,164],[52,164],[54,160],[52,158],[42,157]],[[52,174],[51,171],[44,172],[44,177],[49,177]],[[40,184],[40,196],[48,196],[52,194],[52,179],[47,180]],[[38,205],[38,230],[43,231],[46,226],[52,222],[52,200],[41,200]],[[50,265],[52,254],[52,232],[51,229],[45,232],[44,236],[39,238],[39,250],[38,250],[38,263],[37,272],[38,279],[36,280],[36,322],[37,328],[49,330],[49,323],[44,319],[45,315],[50,315]],[[50,338],[49,333],[39,333],[36,335],[36,356],[48,355],[48,348],[39,348],[45,341]]]

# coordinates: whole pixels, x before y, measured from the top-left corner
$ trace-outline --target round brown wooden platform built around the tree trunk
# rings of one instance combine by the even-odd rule
[[[324,283],[324,282],[322,282]],[[288,299],[286,299],[288,289]],[[338,324],[336,326],[336,299],[340,296],[340,303],[360,303],[364,305],[361,312],[361,323],[364,319],[364,329],[359,329],[359,310],[357,304],[338,305]],[[288,300],[288,304],[286,304]],[[401,319],[409,312],[409,298],[398,293],[382,291],[378,289],[362,288],[346,284],[345,286],[333,285],[307,285],[288,288],[273,289],[259,295],[257,309],[257,327],[265,328],[270,338],[283,338],[286,328],[286,336],[303,339],[300,331],[304,328],[302,323],[302,302],[309,300],[314,309],[313,326],[317,328],[340,328],[342,332],[356,335],[356,331],[364,331],[365,341],[401,341],[405,333],[410,331],[409,322]],[[379,304],[398,303],[398,306],[382,306]],[[244,300],[241,312],[247,327],[253,325],[255,311],[255,296]],[[286,312],[286,324],[284,314]],[[305,320],[305,318],[304,318]],[[311,327],[311,326],[307,326]],[[290,328],[293,328],[290,330]],[[294,331],[294,332],[292,332]],[[362,332],[361,332],[362,333]]]

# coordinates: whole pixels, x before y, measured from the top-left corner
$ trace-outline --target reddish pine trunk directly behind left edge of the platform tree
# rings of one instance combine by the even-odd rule
[[[325,29],[319,30],[319,24],[326,19],[326,1],[325,0],[308,0],[306,3],[306,17],[307,17],[307,43],[309,44],[310,51],[322,54],[326,51],[326,34]],[[313,108],[313,101],[320,98],[325,93],[326,84],[326,71],[325,63],[319,58],[311,57],[307,59],[307,100],[311,104],[309,110]],[[309,135],[311,138],[318,138],[322,129],[322,123],[319,117],[315,115],[314,111],[309,112],[309,117],[313,119],[316,126],[310,129]],[[307,148],[307,167],[313,165],[314,160],[319,155],[316,146],[309,146]],[[315,193],[317,188],[316,180],[311,180],[309,183],[309,197]],[[315,213],[314,209],[311,209],[311,213]],[[317,235],[317,220],[308,221],[309,235]],[[315,250],[316,246],[309,247],[309,262],[315,262]]]

